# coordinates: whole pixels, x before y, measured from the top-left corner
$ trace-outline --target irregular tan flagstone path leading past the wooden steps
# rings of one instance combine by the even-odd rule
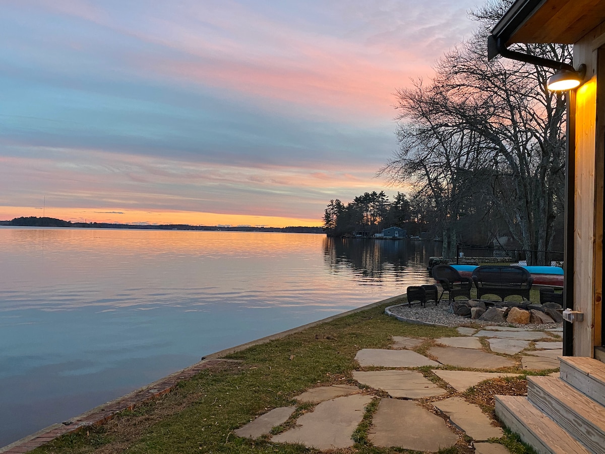
[[[562,354],[561,331],[558,328],[540,332],[501,326],[459,327],[457,331],[459,337],[435,339],[436,346],[427,352],[430,358],[413,351],[420,344],[431,341],[424,338],[393,337],[390,349],[359,350],[355,359],[361,369],[384,369],[355,370],[353,380],[361,387],[349,384],[321,386],[297,396],[298,402],[317,403],[315,408],[299,416],[293,427],[270,439],[301,443],[319,450],[351,447],[353,431],[361,423],[365,407],[379,399],[374,393],[381,390],[389,397],[379,399],[371,416],[368,439],[374,446],[436,452],[456,444],[463,433],[473,439],[477,454],[508,453],[501,444],[485,442],[500,438],[502,429],[460,393],[481,381],[519,375],[493,372],[503,367],[558,369],[557,357]],[[480,338],[488,342],[489,349],[483,347]],[[430,373],[408,370],[422,366],[435,369]],[[443,366],[473,370],[439,369]],[[429,380],[431,373],[451,388],[433,383]],[[427,406],[433,406],[434,411],[429,411]],[[273,409],[235,430],[235,434],[258,438],[269,433],[272,427],[288,421],[294,410],[295,407]]]

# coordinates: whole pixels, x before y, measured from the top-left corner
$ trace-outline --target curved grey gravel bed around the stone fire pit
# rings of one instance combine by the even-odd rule
[[[433,303],[427,303],[427,306],[423,308],[420,304],[412,304],[412,306],[408,306],[405,304],[397,304],[397,306],[390,306],[387,308],[390,314],[407,318],[414,321],[419,321],[424,324],[442,324],[445,326],[472,326],[472,327],[482,327],[482,326],[514,326],[519,328],[526,328],[528,330],[532,329],[548,329],[548,328],[558,328],[563,326],[563,323],[528,323],[528,324],[519,324],[519,323],[494,323],[493,321],[484,321],[484,320],[471,320],[470,318],[460,317],[460,315],[450,314],[448,312],[448,302],[442,301],[437,306]]]

